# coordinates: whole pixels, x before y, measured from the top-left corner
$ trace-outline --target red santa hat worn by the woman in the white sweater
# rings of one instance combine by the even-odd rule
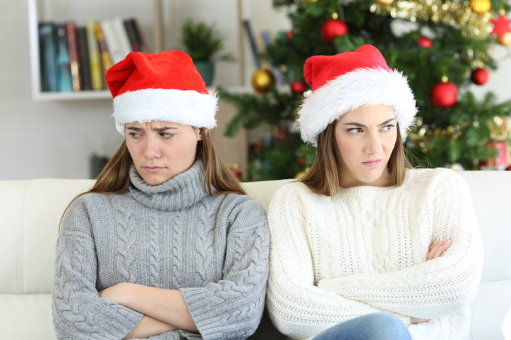
[[[371,45],[335,56],[312,56],[303,75],[312,93],[299,108],[298,122],[301,139],[313,146],[331,122],[360,106],[392,106],[401,129],[411,125],[417,112],[407,77],[390,70]]]

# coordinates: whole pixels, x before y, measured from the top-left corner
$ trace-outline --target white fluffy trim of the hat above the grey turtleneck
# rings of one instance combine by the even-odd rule
[[[114,98],[115,127],[123,136],[124,125],[128,122],[163,120],[212,129],[217,126],[217,108],[218,98],[215,93],[140,89],[124,92]]]

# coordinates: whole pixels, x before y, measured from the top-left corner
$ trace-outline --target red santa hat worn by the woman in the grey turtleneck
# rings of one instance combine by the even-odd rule
[[[109,68],[116,129],[128,122],[164,120],[211,129],[217,125],[218,99],[206,89],[188,54],[131,52]]]

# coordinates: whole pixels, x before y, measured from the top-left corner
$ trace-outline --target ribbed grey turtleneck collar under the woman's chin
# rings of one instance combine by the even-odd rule
[[[179,210],[191,206],[208,195],[204,188],[203,160],[196,160],[185,172],[160,185],[147,184],[131,165],[129,191],[138,203],[156,210]]]

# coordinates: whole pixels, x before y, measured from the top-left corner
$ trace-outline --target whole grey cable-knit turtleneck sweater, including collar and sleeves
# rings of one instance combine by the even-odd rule
[[[59,339],[121,339],[143,315],[98,291],[120,282],[180,289],[200,335],[244,339],[263,314],[269,234],[248,196],[211,196],[201,160],[158,186],[131,168],[124,194],[90,193],[68,208],[56,245],[53,318]]]

